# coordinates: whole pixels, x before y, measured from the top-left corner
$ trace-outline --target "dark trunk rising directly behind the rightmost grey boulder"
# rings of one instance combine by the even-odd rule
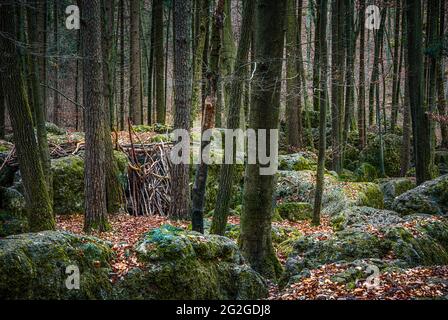
[[[414,156],[417,183],[431,179],[431,133],[428,111],[424,105],[423,76],[423,30],[422,3],[420,0],[406,2],[408,70],[407,81],[414,135]]]

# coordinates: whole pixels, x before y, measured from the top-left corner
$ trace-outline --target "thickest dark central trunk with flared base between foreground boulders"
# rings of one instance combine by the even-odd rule
[[[255,60],[258,71],[254,79],[257,85],[252,92],[249,127],[258,133],[259,129],[267,131],[267,150],[271,150],[270,130],[278,130],[285,11],[286,0],[257,2]],[[246,166],[240,246],[255,270],[266,277],[276,278],[281,267],[271,238],[275,177],[261,175],[262,167],[258,161]]]

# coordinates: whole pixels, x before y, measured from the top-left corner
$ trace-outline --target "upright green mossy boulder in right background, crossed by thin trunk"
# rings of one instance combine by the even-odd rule
[[[397,177],[400,174],[400,152],[402,145],[401,136],[386,134],[384,138],[384,168],[386,175]],[[361,151],[360,161],[380,168],[380,139],[376,136],[369,140],[369,144]]]

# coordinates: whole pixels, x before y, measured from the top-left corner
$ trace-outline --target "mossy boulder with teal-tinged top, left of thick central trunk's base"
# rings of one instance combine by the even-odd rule
[[[145,267],[117,283],[120,299],[259,299],[264,279],[244,263],[236,243],[226,237],[162,226],[136,245]]]

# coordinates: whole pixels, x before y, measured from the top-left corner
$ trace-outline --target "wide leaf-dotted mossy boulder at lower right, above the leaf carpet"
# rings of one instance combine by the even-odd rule
[[[307,269],[359,259],[387,260],[399,268],[448,264],[446,220],[427,215],[403,219],[391,211],[352,208],[332,222],[337,232],[305,236],[291,244],[283,283]]]

